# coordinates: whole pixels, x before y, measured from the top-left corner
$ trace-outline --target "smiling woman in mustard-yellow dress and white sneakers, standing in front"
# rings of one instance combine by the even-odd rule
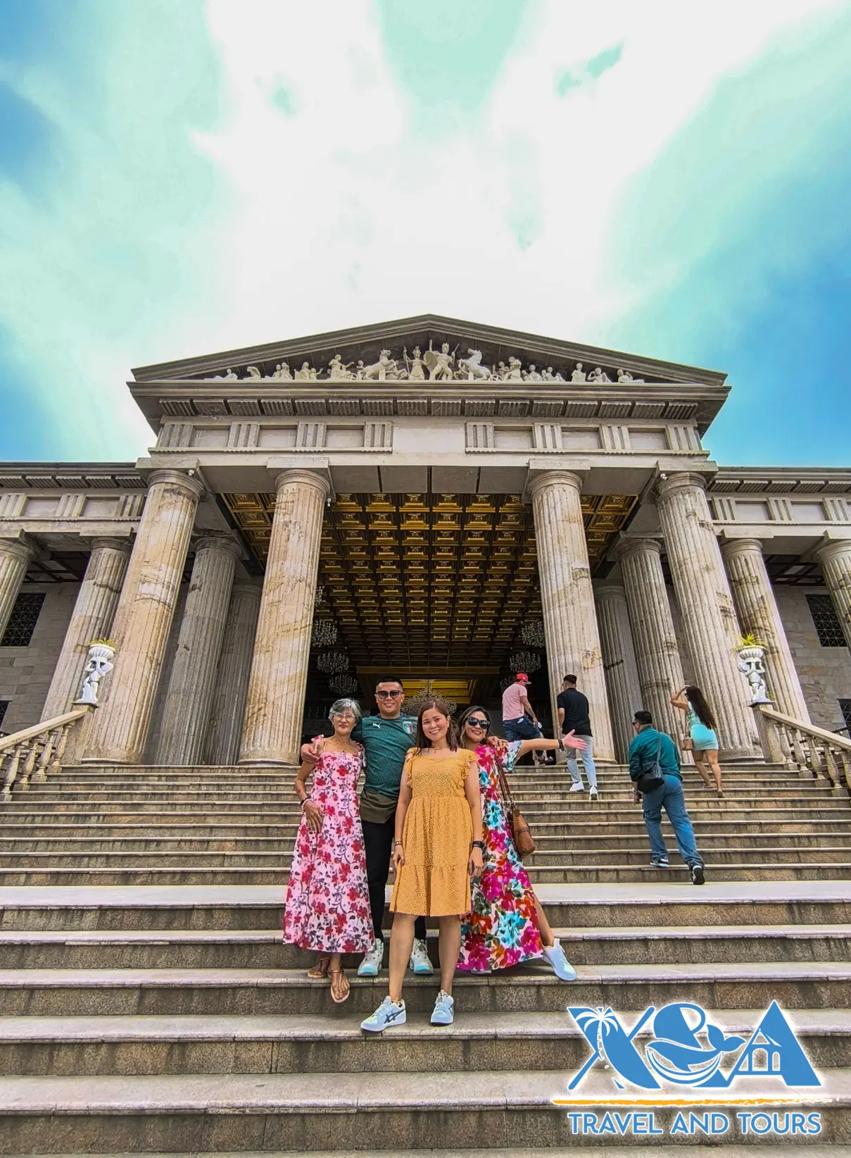
[[[440,992],[432,1025],[452,1025],[452,983],[461,947],[461,918],[470,911],[470,878],[482,875],[484,841],[478,762],[458,746],[449,705],[430,699],[417,719],[417,746],[405,757],[396,808],[390,909],[390,994],[361,1029],[404,1025],[402,981],[420,914],[440,924]]]

